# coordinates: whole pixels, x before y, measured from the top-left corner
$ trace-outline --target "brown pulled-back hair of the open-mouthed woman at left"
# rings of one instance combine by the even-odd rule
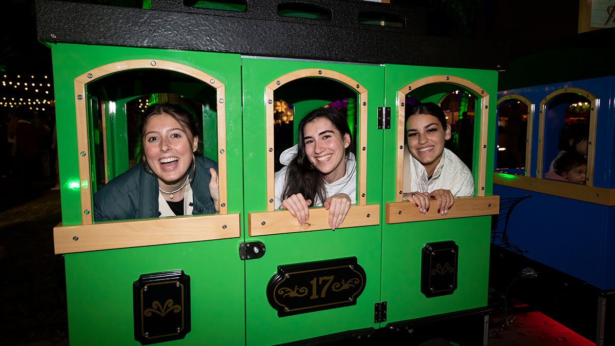
[[[153,116],[157,115],[169,115],[171,118],[175,119],[181,126],[181,129],[186,132],[186,134],[191,135],[193,138],[199,137],[199,146],[196,150],[196,154],[200,154],[200,148],[202,140],[199,136],[199,130],[197,129],[196,121],[194,119],[194,115],[189,111],[185,110],[185,108],[180,105],[175,105],[173,103],[153,103],[149,105],[149,107],[145,110],[143,115],[141,116],[141,121],[139,124],[139,148],[138,148],[138,158],[141,159],[141,162],[145,164],[145,150],[143,147],[145,146],[145,127],[148,125],[149,119]],[[190,142],[192,145],[192,142]]]

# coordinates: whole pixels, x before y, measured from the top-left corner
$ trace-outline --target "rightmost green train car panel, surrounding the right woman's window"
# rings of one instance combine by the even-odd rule
[[[493,112],[489,117],[487,145],[494,145],[496,71],[386,65],[385,97],[386,106],[391,107],[392,126],[384,131],[383,204],[394,202],[397,195],[395,152],[399,149],[394,126],[397,91],[410,82],[442,74],[467,79],[488,92],[488,106]],[[428,85],[419,87],[412,95],[423,102],[439,102],[446,92],[457,89],[458,86],[451,84]],[[475,116],[472,167],[475,181],[478,177],[479,130],[480,116]],[[486,161],[486,167],[493,167],[493,155],[487,155]],[[487,196],[491,195],[493,185],[493,176],[489,172],[487,169]],[[475,195],[478,188],[475,186]],[[388,225],[383,216],[382,300],[387,302],[387,323],[484,307],[488,288],[490,220],[490,217],[470,217]],[[458,288],[449,296],[426,298],[420,290],[421,249],[426,243],[447,240],[453,240],[459,246]]]

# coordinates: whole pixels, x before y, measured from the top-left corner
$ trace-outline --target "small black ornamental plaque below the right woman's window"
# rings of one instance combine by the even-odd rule
[[[454,241],[427,243],[423,247],[421,292],[427,297],[446,296],[457,289],[459,246]]]

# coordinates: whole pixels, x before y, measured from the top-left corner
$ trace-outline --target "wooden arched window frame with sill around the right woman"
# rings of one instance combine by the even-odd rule
[[[446,83],[462,86],[474,95],[480,97],[480,151],[478,154],[478,172],[475,180],[477,197],[455,199],[454,208],[448,214],[421,214],[416,212],[416,207],[403,201],[403,148],[405,137],[405,99],[406,95],[419,87],[427,84]],[[494,215],[499,212],[499,196],[485,196],[486,162],[487,153],[491,152],[487,147],[488,121],[489,121],[489,94],[477,86],[474,82],[456,76],[429,76],[407,84],[397,91],[397,155],[395,172],[395,203],[386,204],[386,223],[401,223],[426,220],[451,219],[456,217],[470,217],[481,215]]]

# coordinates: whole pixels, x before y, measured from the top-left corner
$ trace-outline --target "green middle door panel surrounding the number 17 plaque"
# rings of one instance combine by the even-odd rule
[[[276,78],[304,68],[322,68],[346,74],[368,90],[367,203],[381,201],[382,132],[376,129],[377,107],[384,103],[383,66],[344,63],[293,62],[242,59],[244,86],[244,156],[245,212],[266,211],[266,138],[265,86]],[[358,137],[358,136],[357,136]],[[244,224],[247,234],[247,225]],[[247,344],[271,345],[360,328],[378,328],[374,323],[374,304],[380,298],[381,227],[339,228],[304,233],[250,237],[262,241],[267,253],[261,259],[246,262]],[[277,265],[299,264],[316,260],[357,257],[365,269],[367,286],[357,305],[320,312],[278,317],[267,301],[266,286],[276,273]]]

